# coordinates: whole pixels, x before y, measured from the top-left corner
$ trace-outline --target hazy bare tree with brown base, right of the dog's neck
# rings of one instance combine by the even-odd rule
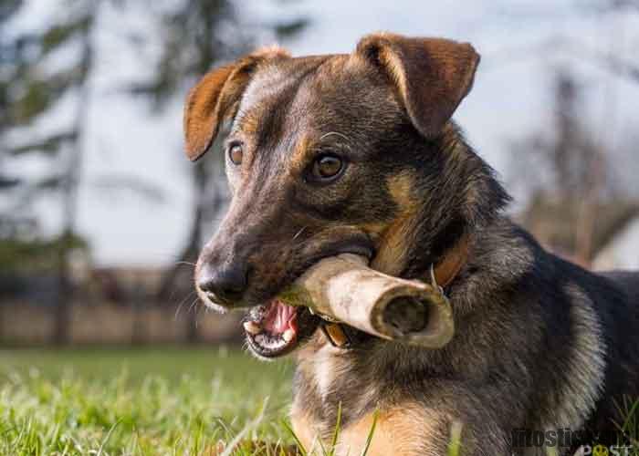
[[[553,250],[589,265],[604,246],[639,216],[636,195],[619,194],[611,179],[613,151],[584,124],[582,88],[571,73],[557,71],[550,132],[515,141],[521,157],[540,160],[539,173],[524,182],[532,191],[523,223]],[[601,126],[600,126],[601,127]],[[604,126],[605,127],[605,126]],[[530,167],[530,161],[515,166]],[[548,171],[551,179],[544,179]],[[519,170],[519,176],[529,176]]]

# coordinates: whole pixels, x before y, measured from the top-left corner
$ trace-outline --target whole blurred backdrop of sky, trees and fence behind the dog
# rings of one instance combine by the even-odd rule
[[[470,41],[456,113],[548,248],[639,267],[639,1],[0,0],[0,347],[236,340],[192,275],[227,193],[183,156],[197,78],[377,30]]]

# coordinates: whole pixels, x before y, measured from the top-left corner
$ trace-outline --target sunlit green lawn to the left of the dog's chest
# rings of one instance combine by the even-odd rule
[[[290,374],[225,348],[0,351],[0,454],[199,455],[239,434],[292,442]]]

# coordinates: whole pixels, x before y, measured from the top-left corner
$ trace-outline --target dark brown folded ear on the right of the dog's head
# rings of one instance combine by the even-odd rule
[[[433,138],[473,86],[479,55],[468,43],[379,33],[364,36],[356,53],[393,80],[408,116]]]

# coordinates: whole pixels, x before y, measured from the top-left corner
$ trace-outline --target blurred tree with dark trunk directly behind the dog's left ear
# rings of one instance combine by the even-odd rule
[[[260,37],[290,38],[307,25],[307,20],[300,17],[270,24],[245,24],[239,8],[240,2],[231,0],[181,0],[170,10],[163,11],[162,55],[154,77],[133,85],[131,91],[148,96],[156,107],[165,106],[175,96],[183,98],[196,78],[215,65],[246,53]],[[158,298],[164,302],[174,295],[190,294],[193,273],[183,264],[194,264],[205,227],[214,223],[227,199],[222,157],[209,155],[194,163],[192,180],[193,216],[182,252],[178,255],[180,261],[162,280]],[[197,339],[196,317],[196,312],[188,312],[187,334],[191,341]]]

